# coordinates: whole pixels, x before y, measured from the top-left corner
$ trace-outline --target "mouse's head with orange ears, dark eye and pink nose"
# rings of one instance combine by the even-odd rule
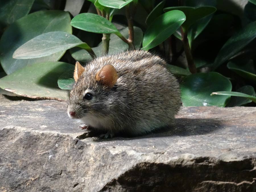
[[[75,84],[69,94],[68,115],[81,119],[85,116],[102,116],[110,112],[114,102],[117,71],[113,65],[95,70],[75,65]]]

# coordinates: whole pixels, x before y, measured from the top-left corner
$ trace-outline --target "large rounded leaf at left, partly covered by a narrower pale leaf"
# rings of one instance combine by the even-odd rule
[[[58,61],[65,51],[36,59],[14,59],[13,53],[32,38],[51,31],[72,33],[68,12],[38,11],[24,16],[10,25],[0,40],[0,62],[7,74],[22,67],[45,61]]]

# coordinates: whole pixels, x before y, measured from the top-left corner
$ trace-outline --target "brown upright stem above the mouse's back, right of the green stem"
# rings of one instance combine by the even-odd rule
[[[135,46],[133,43],[134,41],[133,13],[131,14],[130,9],[131,9],[130,4],[125,7],[125,14],[126,14],[128,29],[129,29],[128,45],[129,45],[129,49],[135,49]]]

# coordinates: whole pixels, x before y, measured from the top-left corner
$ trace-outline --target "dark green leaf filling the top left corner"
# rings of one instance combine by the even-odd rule
[[[27,15],[33,3],[34,0],[0,1],[0,27],[4,28],[15,22],[17,19]]]

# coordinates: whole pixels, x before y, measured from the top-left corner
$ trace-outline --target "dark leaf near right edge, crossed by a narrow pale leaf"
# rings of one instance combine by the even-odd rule
[[[255,90],[253,86],[245,85],[236,90],[236,92],[244,93],[250,96],[255,96]],[[234,92],[231,92],[234,94]],[[235,107],[235,106],[244,106],[247,103],[250,103],[251,100],[246,97],[231,97],[230,102],[227,107]]]

